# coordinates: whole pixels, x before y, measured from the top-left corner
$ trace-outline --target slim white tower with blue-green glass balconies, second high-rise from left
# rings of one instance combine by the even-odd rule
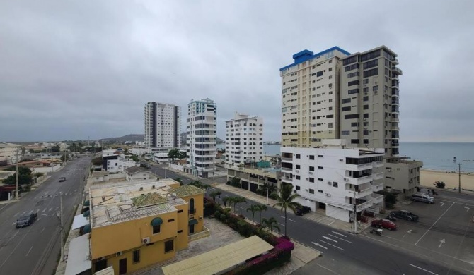
[[[211,99],[187,104],[185,172],[208,178],[214,172],[217,147],[216,104]]]

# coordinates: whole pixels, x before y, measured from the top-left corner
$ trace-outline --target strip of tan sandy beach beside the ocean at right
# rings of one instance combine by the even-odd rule
[[[459,175],[458,173],[446,173],[446,171],[434,171],[422,169],[420,175],[422,186],[434,187],[435,181],[444,181],[445,188],[458,188]],[[474,173],[461,173],[461,188],[474,190]]]

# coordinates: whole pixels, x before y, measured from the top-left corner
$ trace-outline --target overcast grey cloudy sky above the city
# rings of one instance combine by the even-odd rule
[[[398,54],[401,141],[474,141],[474,1],[1,1],[0,141],[144,132],[144,104],[217,104],[280,140],[279,68]],[[185,124],[183,124],[185,128]]]

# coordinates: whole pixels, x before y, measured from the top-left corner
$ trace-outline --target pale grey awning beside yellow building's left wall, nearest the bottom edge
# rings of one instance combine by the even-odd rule
[[[89,235],[74,238],[69,243],[65,275],[76,275],[92,268]]]

